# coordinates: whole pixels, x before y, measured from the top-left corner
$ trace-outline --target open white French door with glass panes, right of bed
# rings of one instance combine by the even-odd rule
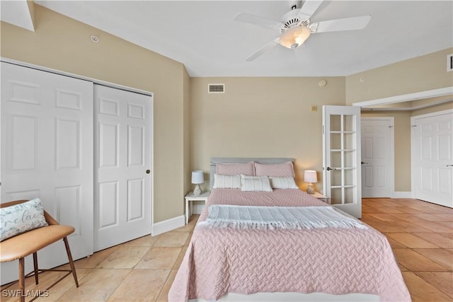
[[[360,108],[323,106],[323,187],[333,207],[362,217]]]

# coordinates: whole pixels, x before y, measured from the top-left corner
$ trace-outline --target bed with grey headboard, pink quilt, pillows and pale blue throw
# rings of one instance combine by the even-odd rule
[[[299,190],[293,162],[211,159],[168,301],[411,301],[386,237]]]

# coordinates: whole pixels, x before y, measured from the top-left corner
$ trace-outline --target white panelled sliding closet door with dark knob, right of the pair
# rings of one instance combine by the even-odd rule
[[[95,85],[94,250],[151,233],[152,97]]]

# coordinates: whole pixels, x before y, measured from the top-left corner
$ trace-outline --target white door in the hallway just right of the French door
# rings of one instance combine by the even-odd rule
[[[362,197],[391,197],[394,182],[394,119],[362,117]]]

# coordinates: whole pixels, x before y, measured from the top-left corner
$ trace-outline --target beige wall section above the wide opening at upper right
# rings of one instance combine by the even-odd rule
[[[449,48],[346,76],[346,105],[453,86],[453,72],[447,72],[447,54],[452,53]]]

